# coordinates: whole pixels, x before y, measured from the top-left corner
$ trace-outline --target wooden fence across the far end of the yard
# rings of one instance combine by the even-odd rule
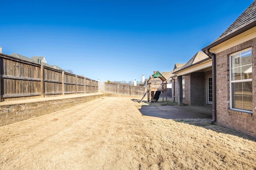
[[[104,83],[104,92],[125,94],[130,96],[143,96],[147,91],[146,87],[132,86],[128,84]]]

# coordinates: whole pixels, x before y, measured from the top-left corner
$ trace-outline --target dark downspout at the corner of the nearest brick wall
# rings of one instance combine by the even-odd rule
[[[216,54],[211,53],[209,49],[205,53],[212,58],[212,120],[210,123],[216,122]]]

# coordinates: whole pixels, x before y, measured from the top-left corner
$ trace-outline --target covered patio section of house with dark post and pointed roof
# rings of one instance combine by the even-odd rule
[[[175,68],[172,79],[176,94],[174,101],[180,106],[212,105],[212,59],[202,51]]]

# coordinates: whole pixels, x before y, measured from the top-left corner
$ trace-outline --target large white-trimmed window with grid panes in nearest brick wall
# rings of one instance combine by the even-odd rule
[[[230,55],[230,108],[252,111],[252,49]]]

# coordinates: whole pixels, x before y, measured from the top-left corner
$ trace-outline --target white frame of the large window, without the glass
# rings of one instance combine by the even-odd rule
[[[247,49],[244,49],[244,50],[241,50],[241,51],[237,51],[236,53],[232,53],[232,54],[230,54],[229,55],[229,66],[230,66],[230,74],[229,74],[229,92],[230,92],[230,109],[232,109],[232,110],[236,110],[236,111],[242,111],[242,112],[246,112],[246,113],[252,113],[252,111],[250,111],[250,110],[244,110],[244,109],[236,109],[236,108],[232,108],[232,83],[236,83],[236,82],[252,82],[252,78],[250,78],[250,79],[244,79],[244,80],[232,80],[232,65],[231,65],[231,62],[232,62],[232,60],[231,60],[231,56],[233,56],[233,55],[237,55],[237,54],[239,54],[239,53],[243,53],[243,52],[245,52],[245,51],[248,51],[248,50],[252,50],[252,47],[250,47],[250,48],[247,48]],[[253,63],[252,63],[252,65],[253,65]],[[253,96],[252,96],[253,97]]]

